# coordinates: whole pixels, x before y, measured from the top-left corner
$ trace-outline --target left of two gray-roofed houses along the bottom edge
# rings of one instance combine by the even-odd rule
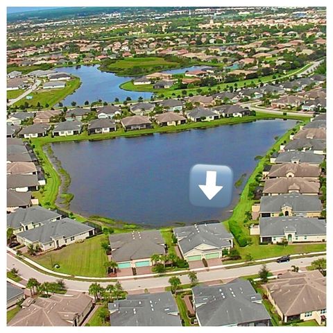
[[[139,293],[108,304],[111,326],[181,326],[171,291]]]

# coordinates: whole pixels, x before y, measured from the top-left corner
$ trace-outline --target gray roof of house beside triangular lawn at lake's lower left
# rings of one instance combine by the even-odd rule
[[[54,238],[68,238],[90,230],[94,230],[94,228],[66,217],[46,223],[38,228],[19,232],[19,237],[31,242],[39,241],[41,244],[46,244]]]

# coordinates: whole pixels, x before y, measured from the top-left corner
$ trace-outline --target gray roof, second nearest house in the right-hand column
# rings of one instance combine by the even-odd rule
[[[294,213],[321,212],[322,207],[318,196],[306,196],[297,192],[260,198],[261,213],[278,213],[285,206],[291,207]]]

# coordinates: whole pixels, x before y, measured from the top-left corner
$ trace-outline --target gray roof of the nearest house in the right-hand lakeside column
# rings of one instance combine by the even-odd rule
[[[298,236],[326,234],[326,220],[310,217],[262,217],[259,219],[260,237],[284,237],[285,232]]]

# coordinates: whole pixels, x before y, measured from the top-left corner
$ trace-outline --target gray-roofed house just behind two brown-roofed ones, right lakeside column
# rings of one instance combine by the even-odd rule
[[[311,165],[320,165],[325,159],[324,155],[315,154],[312,151],[285,151],[271,157],[271,163],[307,163]]]

